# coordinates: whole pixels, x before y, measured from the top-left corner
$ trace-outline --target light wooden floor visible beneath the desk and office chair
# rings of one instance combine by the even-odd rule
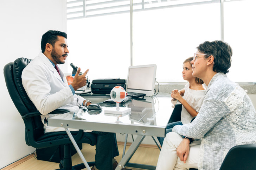
[[[128,148],[129,146],[127,146],[126,150],[128,150]],[[119,162],[122,158],[123,145],[118,145],[118,149],[119,149],[120,155],[115,157],[117,162]],[[89,144],[83,143],[83,149],[81,151],[85,156],[85,160],[87,162],[94,161],[95,146],[90,146]],[[158,161],[159,153],[160,153],[159,149],[139,147],[129,162],[147,164],[147,165],[156,165]],[[81,158],[78,156],[78,154],[73,155],[72,165],[76,165],[79,163],[82,163]],[[40,161],[33,157],[17,165],[11,170],[53,170],[58,168],[59,168],[58,163]],[[139,170],[136,168],[130,168],[130,169]]]

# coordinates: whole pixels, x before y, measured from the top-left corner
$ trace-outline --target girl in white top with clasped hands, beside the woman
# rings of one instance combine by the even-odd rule
[[[166,126],[166,134],[172,132],[172,128],[175,125],[185,125],[190,123],[193,117],[198,114],[203,103],[206,87],[203,85],[203,80],[193,77],[192,64],[190,63],[192,60],[193,57],[190,57],[183,62],[182,76],[188,83],[182,90],[178,91],[175,89],[171,93],[171,97],[179,100],[182,104],[181,121],[169,123]],[[162,146],[164,137],[158,137],[158,140]]]

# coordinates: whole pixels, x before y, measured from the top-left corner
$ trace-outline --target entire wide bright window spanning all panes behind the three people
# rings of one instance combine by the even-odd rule
[[[156,64],[158,82],[184,82],[183,61],[193,56],[200,43],[221,40],[224,34],[233,48],[228,77],[255,82],[250,76],[256,60],[250,50],[256,46],[255,3],[224,1],[222,32],[220,0],[133,0],[131,58],[129,0],[71,0],[67,2],[67,63],[82,71],[89,68],[90,79],[127,78],[132,59],[133,65]],[[71,73],[72,68],[64,71]]]

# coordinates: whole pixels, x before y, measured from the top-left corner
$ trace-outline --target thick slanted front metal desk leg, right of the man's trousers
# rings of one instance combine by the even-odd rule
[[[137,135],[136,139],[134,140],[134,142],[132,143],[130,148],[127,150],[127,153],[124,155],[124,157],[122,158],[122,160],[119,162],[118,166],[116,167],[116,170],[121,170],[123,168],[123,166],[126,164],[126,162],[128,162],[130,160],[130,158],[133,156],[133,154],[135,153],[137,148],[140,146],[140,144],[144,138],[145,138],[145,136]]]

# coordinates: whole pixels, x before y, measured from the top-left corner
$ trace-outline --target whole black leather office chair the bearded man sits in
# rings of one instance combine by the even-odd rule
[[[61,169],[83,169],[85,168],[84,164],[78,164],[72,167],[70,152],[71,141],[65,131],[44,134],[41,114],[28,98],[21,82],[21,73],[31,61],[31,59],[27,58],[18,58],[14,62],[6,64],[4,67],[4,76],[8,92],[25,123],[26,144],[38,149],[64,144],[64,159],[60,161],[59,167]],[[56,109],[49,114],[66,112],[69,111],[66,109]],[[84,137],[83,133],[83,130],[71,132],[77,143],[89,143],[91,146],[94,146],[97,141],[96,135],[85,133],[86,137]],[[95,162],[88,162],[88,164],[91,167]]]

